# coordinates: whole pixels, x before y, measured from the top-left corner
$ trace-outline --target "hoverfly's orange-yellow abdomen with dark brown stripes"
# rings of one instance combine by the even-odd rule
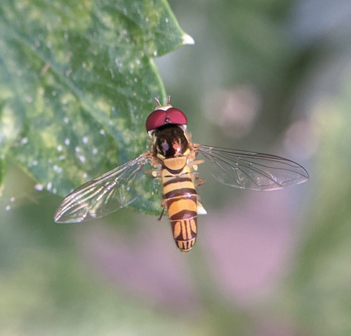
[[[171,221],[173,238],[182,252],[194,246],[197,236],[197,191],[187,166],[179,174],[162,171],[163,198]]]

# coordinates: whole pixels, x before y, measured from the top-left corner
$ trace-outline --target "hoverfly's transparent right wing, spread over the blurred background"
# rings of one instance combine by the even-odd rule
[[[213,164],[213,177],[241,189],[275,190],[300,184],[308,173],[298,163],[280,156],[194,145]]]

